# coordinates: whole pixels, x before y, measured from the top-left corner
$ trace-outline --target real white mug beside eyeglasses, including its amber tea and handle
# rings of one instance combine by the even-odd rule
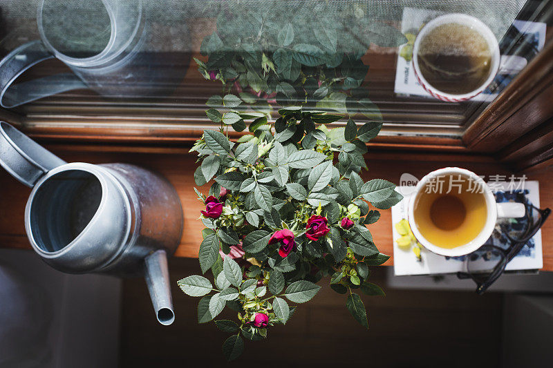
[[[449,257],[480,248],[494,231],[498,217],[524,215],[524,204],[496,203],[481,177],[456,167],[424,176],[408,207],[415,238],[429,251]]]

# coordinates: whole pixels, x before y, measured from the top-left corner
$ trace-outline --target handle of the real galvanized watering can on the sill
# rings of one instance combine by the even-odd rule
[[[19,182],[34,186],[53,168],[66,164],[6,122],[0,122],[0,165]]]

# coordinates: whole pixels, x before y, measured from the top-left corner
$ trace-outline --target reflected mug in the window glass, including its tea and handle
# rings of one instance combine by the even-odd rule
[[[413,46],[418,82],[442,101],[465,101],[480,94],[498,70],[518,72],[526,60],[500,56],[494,32],[467,14],[447,14],[429,21]]]

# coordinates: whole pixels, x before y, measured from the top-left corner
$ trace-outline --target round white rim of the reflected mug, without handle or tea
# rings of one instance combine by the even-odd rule
[[[420,40],[423,39],[424,36],[427,35],[427,33],[434,28],[446,23],[458,23],[473,27],[478,31],[478,33],[480,33],[480,35],[482,35],[486,39],[489,49],[492,52],[491,67],[489,68],[489,75],[487,79],[478,88],[471,90],[468,93],[455,95],[453,93],[446,93],[434,88],[431,84],[429,84],[427,79],[424,78],[418,65],[418,50],[420,48]],[[496,74],[499,70],[500,57],[501,55],[499,51],[499,43],[496,39],[496,35],[494,35],[494,32],[491,32],[489,27],[486,26],[485,23],[480,21],[480,19],[462,13],[445,14],[432,19],[427,24],[425,24],[424,27],[422,27],[417,37],[415,38],[415,43],[413,44],[413,68],[415,70],[416,77],[419,79],[421,84],[423,84],[423,87],[425,89],[428,89],[429,91],[431,91],[431,93],[437,95],[438,97],[442,97],[444,99],[449,99],[452,101],[463,101],[482,93],[482,91],[485,90],[487,86],[489,86],[491,81],[493,81],[496,77]]]

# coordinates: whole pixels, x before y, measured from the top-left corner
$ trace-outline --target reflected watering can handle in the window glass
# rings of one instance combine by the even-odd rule
[[[86,88],[76,75],[62,73],[13,84],[19,75],[39,62],[53,59],[40,40],[19,46],[0,61],[0,106],[12,108],[56,93]]]

